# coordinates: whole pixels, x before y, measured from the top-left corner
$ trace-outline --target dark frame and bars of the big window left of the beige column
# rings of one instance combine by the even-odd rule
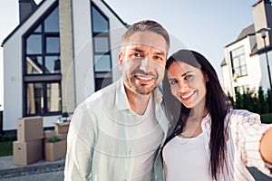
[[[63,112],[63,108],[62,108],[62,103],[60,104],[60,110],[58,111],[48,111],[47,108],[47,87],[46,85],[48,83],[58,83],[60,85],[59,87],[59,91],[62,92],[62,74],[61,74],[61,70],[60,72],[57,73],[48,73],[45,71],[45,58],[46,56],[59,56],[61,57],[61,52],[60,49],[61,47],[59,47],[59,52],[50,52],[47,53],[45,52],[46,50],[46,37],[59,37],[60,38],[60,32],[45,32],[44,31],[44,22],[45,19],[51,14],[53,13],[53,11],[55,10],[55,8],[58,8],[58,2],[54,3],[47,11],[46,13],[44,13],[44,15],[41,16],[40,19],[37,20],[37,22],[29,28],[29,30],[24,33],[24,35],[22,36],[22,69],[23,69],[23,117],[28,117],[28,116],[53,116],[53,115],[60,115]],[[41,30],[39,32],[34,32],[39,26],[41,26]],[[41,53],[31,53],[28,54],[26,52],[26,41],[27,38],[32,35],[32,34],[40,34],[42,36],[42,52]],[[61,46],[61,44],[60,44]],[[41,56],[42,57],[42,62],[43,62],[43,73],[41,74],[27,74],[26,70],[27,70],[27,62],[26,62],[26,57],[27,56]],[[60,58],[59,58],[60,59]],[[61,59],[60,59],[61,61]],[[60,68],[61,69],[61,68]],[[44,107],[45,107],[45,111],[44,113],[34,113],[34,114],[29,114],[27,113],[27,85],[29,83],[42,83],[43,84],[43,93],[44,93],[44,97],[43,97],[43,101],[44,101]],[[60,94],[60,98],[62,99],[62,94]]]

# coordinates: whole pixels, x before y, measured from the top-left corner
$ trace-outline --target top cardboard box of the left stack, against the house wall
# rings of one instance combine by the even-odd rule
[[[44,138],[43,117],[29,117],[18,119],[17,121],[17,140],[31,141]]]

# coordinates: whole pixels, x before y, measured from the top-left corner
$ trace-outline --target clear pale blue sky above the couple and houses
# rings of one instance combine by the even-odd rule
[[[0,44],[19,24],[19,0],[0,0]],[[78,0],[80,3],[81,0]],[[252,5],[258,0],[104,0],[122,21],[142,19],[162,24],[187,48],[202,53],[221,77],[224,47],[253,24]],[[35,0],[39,4],[41,0]],[[0,47],[0,105],[3,105],[3,48]],[[3,108],[0,107],[0,110]]]

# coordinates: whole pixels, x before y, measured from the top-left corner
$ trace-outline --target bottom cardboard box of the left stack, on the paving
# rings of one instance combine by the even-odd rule
[[[26,166],[43,159],[42,139],[14,141],[14,164]]]

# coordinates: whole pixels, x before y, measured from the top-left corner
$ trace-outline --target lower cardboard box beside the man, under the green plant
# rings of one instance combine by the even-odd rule
[[[54,161],[65,157],[66,155],[67,142],[65,139],[58,142],[45,143],[45,159],[46,161]]]

